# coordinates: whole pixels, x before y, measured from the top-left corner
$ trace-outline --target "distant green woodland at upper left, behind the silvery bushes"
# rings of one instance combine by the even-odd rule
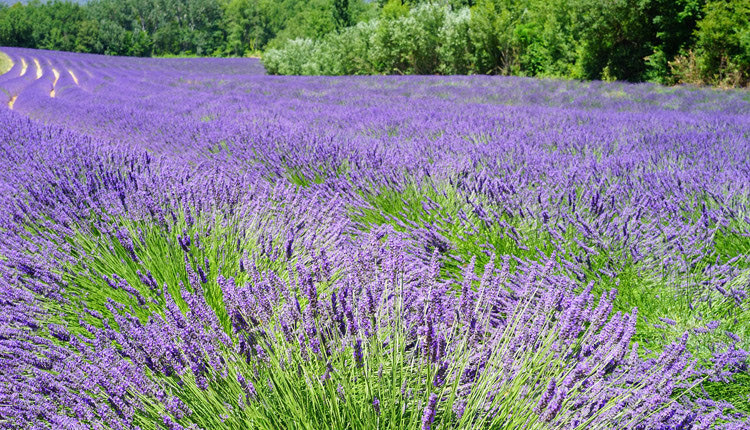
[[[368,19],[374,7],[364,0],[32,0],[0,4],[0,46],[243,56],[288,39],[322,37]]]

